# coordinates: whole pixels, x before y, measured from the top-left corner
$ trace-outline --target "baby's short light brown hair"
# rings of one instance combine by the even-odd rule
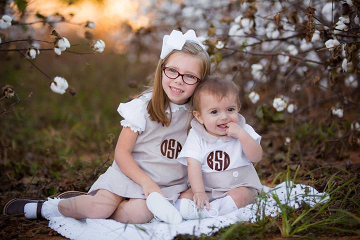
[[[192,95],[192,106],[194,110],[199,110],[200,96],[204,92],[218,96],[220,99],[222,99],[222,97],[227,97],[229,94],[235,94],[236,103],[240,109],[241,104],[238,94],[238,87],[235,82],[230,79],[220,78],[219,76],[209,76],[201,80],[197,84]]]

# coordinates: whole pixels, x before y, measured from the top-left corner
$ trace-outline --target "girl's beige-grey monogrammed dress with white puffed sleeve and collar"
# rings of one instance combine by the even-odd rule
[[[131,156],[165,195],[175,201],[179,193],[188,188],[186,166],[176,160],[186,139],[187,104],[170,103],[171,123],[162,126],[149,118],[146,106],[150,98],[151,92],[145,93],[127,103],[120,103],[117,111],[124,118],[122,126],[139,131]],[[169,115],[169,109],[166,113]],[[115,160],[93,183],[88,194],[93,195],[98,189],[129,198],[145,198],[142,187],[122,173]]]

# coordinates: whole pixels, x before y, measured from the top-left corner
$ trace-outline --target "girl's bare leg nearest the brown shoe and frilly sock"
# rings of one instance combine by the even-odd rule
[[[76,219],[107,218],[122,200],[122,196],[99,189],[93,196],[81,195],[62,199],[58,203],[58,210],[62,215]]]

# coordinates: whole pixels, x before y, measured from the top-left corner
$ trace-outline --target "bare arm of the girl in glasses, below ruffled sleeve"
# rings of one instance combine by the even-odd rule
[[[115,147],[115,162],[120,170],[142,187],[145,196],[153,191],[165,196],[160,187],[137,165],[131,156],[138,132],[123,127]],[[121,182],[119,182],[121,184]]]

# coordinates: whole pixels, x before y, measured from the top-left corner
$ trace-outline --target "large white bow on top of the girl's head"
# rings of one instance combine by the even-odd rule
[[[186,40],[193,41],[205,49],[205,46],[197,39],[194,30],[190,29],[184,34],[181,31],[172,30],[170,35],[164,35],[162,38],[160,58],[164,59],[172,50],[181,50]]]

